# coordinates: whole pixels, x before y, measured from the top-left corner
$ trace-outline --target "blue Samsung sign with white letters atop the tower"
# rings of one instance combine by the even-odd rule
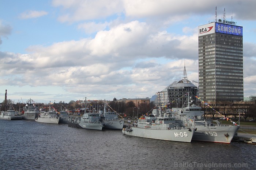
[[[243,27],[236,25],[227,25],[221,23],[215,23],[215,32],[227,33],[233,35],[243,35]]]

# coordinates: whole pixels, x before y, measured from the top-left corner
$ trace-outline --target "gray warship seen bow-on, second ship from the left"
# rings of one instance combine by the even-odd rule
[[[32,99],[29,99],[27,101],[27,104],[23,108],[23,111],[23,119],[27,120],[35,120],[35,118],[37,118],[40,113],[38,106],[34,104],[34,101]]]

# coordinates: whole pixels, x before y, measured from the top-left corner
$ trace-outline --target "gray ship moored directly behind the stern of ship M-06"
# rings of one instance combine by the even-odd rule
[[[106,105],[104,109],[99,110],[104,129],[117,129],[122,130],[124,126],[124,120],[118,119],[118,114],[114,111],[107,109]]]

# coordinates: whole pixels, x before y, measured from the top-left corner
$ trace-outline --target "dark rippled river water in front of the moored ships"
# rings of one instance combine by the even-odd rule
[[[255,169],[256,146],[181,143],[0,119],[0,169]]]

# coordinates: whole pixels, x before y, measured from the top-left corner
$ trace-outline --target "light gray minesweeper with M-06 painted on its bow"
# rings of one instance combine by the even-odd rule
[[[138,119],[135,126],[123,128],[123,134],[166,141],[191,142],[195,129],[180,126],[180,123],[171,117],[171,114],[161,116],[160,109],[154,109],[153,112],[156,114],[153,113]],[[159,117],[157,112],[160,113]]]

